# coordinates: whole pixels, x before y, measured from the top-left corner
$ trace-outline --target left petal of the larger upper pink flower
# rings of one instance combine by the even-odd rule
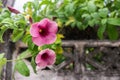
[[[38,28],[39,22],[32,24],[30,27],[30,34],[33,37],[38,37],[39,36],[39,28]]]

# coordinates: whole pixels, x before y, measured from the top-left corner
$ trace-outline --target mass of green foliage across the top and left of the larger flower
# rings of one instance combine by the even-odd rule
[[[70,26],[85,30],[87,27],[94,28],[97,25],[97,34],[100,39],[104,39],[104,33],[108,34],[109,39],[118,39],[117,27],[112,28],[114,31],[110,31],[111,27],[109,27],[110,25],[120,26],[118,3],[120,3],[118,0],[34,0],[24,5],[23,14],[11,15],[9,10],[2,9],[0,13],[0,41],[3,42],[2,36],[7,29],[13,29],[12,41],[16,42],[21,39],[32,50],[34,44],[30,44],[31,37],[27,34],[29,33],[28,19],[25,18],[28,15],[33,19],[33,22],[40,21],[45,17],[56,17],[60,28]],[[110,37],[111,32],[115,32],[116,38]]]

